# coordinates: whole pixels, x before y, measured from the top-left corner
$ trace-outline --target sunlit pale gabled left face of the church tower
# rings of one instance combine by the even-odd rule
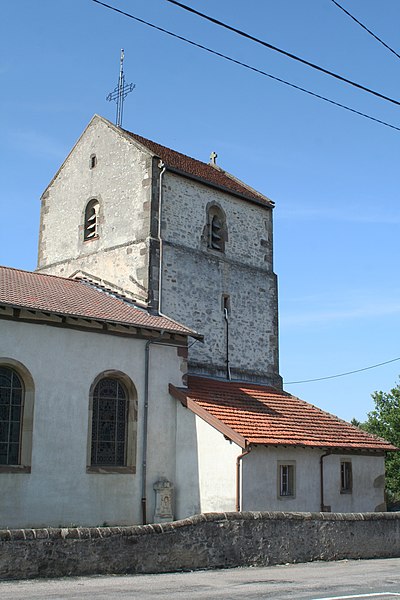
[[[91,198],[100,202],[99,238],[83,241]],[[150,200],[150,155],[94,117],[43,195],[38,269],[84,270],[146,299]]]

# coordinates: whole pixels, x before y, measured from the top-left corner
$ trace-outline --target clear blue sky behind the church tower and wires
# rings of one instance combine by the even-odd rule
[[[400,107],[224,31],[165,0],[110,4],[400,126]],[[186,0],[220,20],[400,99],[400,60],[331,0]],[[342,0],[400,50],[396,0]],[[1,5],[0,264],[36,267],[39,198],[94,113],[127,82],[125,128],[218,163],[275,208],[280,363],[286,382],[400,356],[400,132],[211,56],[91,0]],[[254,299],[257,301],[257,299]],[[400,361],[286,389],[344,419],[398,380]]]

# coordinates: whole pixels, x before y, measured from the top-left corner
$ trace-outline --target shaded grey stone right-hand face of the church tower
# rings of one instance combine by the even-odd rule
[[[192,372],[280,385],[272,211],[188,178],[164,176],[162,310],[204,335],[189,353]],[[208,248],[207,212],[226,216],[225,252]]]

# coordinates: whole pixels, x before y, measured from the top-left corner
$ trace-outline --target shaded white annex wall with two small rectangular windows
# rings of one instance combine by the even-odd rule
[[[242,462],[243,510],[320,511],[320,456],[304,448],[256,447]],[[340,493],[340,461],[346,455],[324,459],[324,504],[332,512],[382,510],[383,457],[347,456],[353,464],[353,492]],[[295,497],[278,496],[278,461],[296,461]]]

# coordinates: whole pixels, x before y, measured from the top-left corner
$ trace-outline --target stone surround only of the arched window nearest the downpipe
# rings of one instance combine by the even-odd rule
[[[93,426],[93,393],[102,379],[116,379],[122,383],[128,397],[128,417],[126,434],[126,460],[124,466],[105,466],[92,465],[92,426]],[[102,371],[94,379],[89,391],[89,414],[88,414],[88,439],[86,454],[86,472],[87,473],[136,473],[136,453],[137,453],[137,391],[131,378],[118,370]]]

